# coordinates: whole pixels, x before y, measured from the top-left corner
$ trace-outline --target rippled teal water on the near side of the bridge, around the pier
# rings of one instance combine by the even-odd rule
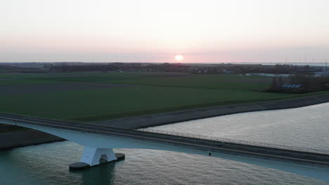
[[[142,149],[117,149],[126,160],[68,170],[82,146],[57,142],[0,152],[0,184],[328,184],[288,172],[221,158]]]

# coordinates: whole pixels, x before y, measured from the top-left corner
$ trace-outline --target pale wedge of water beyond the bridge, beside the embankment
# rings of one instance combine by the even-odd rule
[[[328,110],[326,103],[205,118],[153,129],[329,150]]]

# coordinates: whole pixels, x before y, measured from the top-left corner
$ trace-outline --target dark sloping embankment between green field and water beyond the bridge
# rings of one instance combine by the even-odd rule
[[[186,111],[173,111],[168,113],[150,114],[146,116],[119,118],[110,121],[100,121],[96,122],[95,124],[116,128],[139,129],[174,124],[183,121],[191,121],[202,118],[225,116],[229,114],[307,107],[327,102],[329,102],[329,94],[314,95],[309,97],[297,97],[288,100],[274,100],[269,102],[258,102],[249,104],[231,104],[218,107],[190,109]]]

